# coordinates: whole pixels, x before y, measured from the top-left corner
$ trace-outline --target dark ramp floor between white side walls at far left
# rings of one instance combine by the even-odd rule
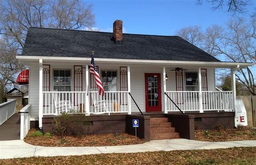
[[[0,140],[20,139],[20,114],[15,113],[0,126]]]

